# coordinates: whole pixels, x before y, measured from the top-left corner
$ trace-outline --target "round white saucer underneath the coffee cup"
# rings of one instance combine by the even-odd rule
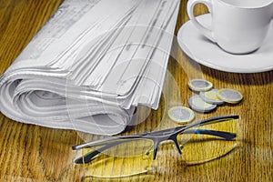
[[[211,15],[199,15],[197,20],[209,27]],[[258,73],[273,70],[273,22],[264,44],[256,52],[248,55],[228,54],[201,35],[190,21],[179,29],[177,41],[187,56],[199,64],[217,70],[233,73]]]

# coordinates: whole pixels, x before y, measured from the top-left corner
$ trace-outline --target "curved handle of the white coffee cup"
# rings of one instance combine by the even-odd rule
[[[212,42],[216,43],[216,39],[214,38],[212,30],[209,30],[207,27],[204,25],[201,25],[198,21],[196,16],[194,15],[194,7],[197,4],[204,4],[207,6],[208,11],[213,14],[212,12],[212,3],[211,0],[189,0],[187,2],[187,15],[189,16],[190,20],[192,23],[197,27],[197,29],[205,35],[209,40]]]

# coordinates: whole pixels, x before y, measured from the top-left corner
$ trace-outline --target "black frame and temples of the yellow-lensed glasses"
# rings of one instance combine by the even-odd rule
[[[150,139],[153,140],[154,142],[154,154],[153,154],[153,160],[156,159],[157,157],[157,149],[163,141],[171,140],[175,143],[175,146],[177,148],[177,151],[179,154],[182,154],[181,149],[179,147],[179,144],[177,142],[177,135],[183,133],[186,129],[189,129],[194,126],[205,126],[213,123],[218,123],[218,122],[225,122],[230,119],[238,119],[238,115],[234,116],[215,116],[211,117],[205,120],[197,121],[192,124],[186,125],[186,126],[177,126],[169,129],[163,129],[159,131],[153,131],[149,133],[143,133],[139,135],[133,135],[133,136],[112,136],[112,137],[107,137],[103,139],[98,139],[95,141],[91,141],[85,144],[77,145],[72,147],[74,150],[79,150],[83,149],[86,147],[100,147],[98,150],[93,151],[92,153],[84,156],[84,157],[78,157],[75,160],[76,164],[84,164],[84,163],[89,163],[92,161],[96,155],[100,154],[101,151],[106,150],[107,148],[114,147],[120,143],[124,142],[130,142],[132,140],[130,139]],[[196,129],[193,130],[194,133],[197,134],[205,134],[205,135],[212,135],[212,136],[219,136],[222,138],[225,138],[226,140],[232,140],[235,137],[237,137],[237,134],[235,133],[228,133],[228,132],[223,132],[223,131],[217,131],[217,130],[207,130],[207,129]],[[194,134],[193,133],[193,134]],[[182,134],[183,135],[183,134]],[[110,142],[110,143],[109,143]]]

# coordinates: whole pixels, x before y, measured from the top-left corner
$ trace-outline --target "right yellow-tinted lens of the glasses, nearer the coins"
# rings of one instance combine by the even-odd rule
[[[230,138],[224,138],[221,135]],[[226,155],[236,147],[237,121],[229,119],[190,128],[178,135],[177,141],[187,164],[207,162]]]

